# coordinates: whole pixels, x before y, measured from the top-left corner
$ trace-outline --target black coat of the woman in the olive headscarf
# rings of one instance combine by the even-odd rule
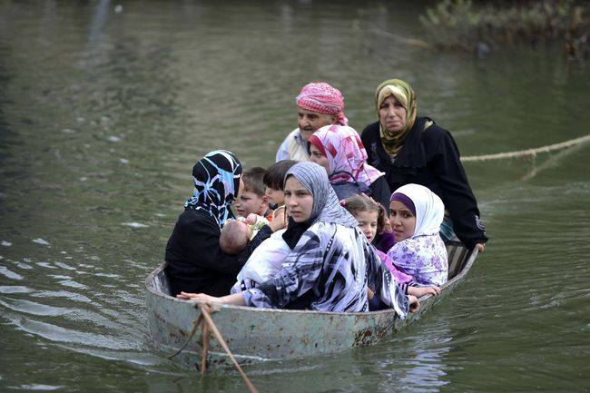
[[[449,211],[457,237],[473,249],[477,243],[487,241],[476,198],[453,136],[437,124],[424,130],[429,120],[416,119],[395,160],[383,148],[379,122],[369,124],[360,137],[367,149],[367,162],[385,172],[391,192],[408,183],[421,184],[435,192]]]

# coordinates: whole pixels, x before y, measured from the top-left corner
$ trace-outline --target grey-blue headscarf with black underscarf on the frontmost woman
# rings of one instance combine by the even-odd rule
[[[336,192],[329,184],[328,173],[315,162],[299,162],[293,165],[285,175],[285,182],[289,176],[295,176],[313,197],[310,219],[295,222],[289,219],[287,231],[282,235],[284,241],[293,249],[300,240],[303,232],[316,222],[330,222],[345,227],[355,228],[359,225],[349,211],[340,206]]]

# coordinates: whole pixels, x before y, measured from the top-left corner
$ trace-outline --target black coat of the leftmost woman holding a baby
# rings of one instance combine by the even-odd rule
[[[228,295],[252,251],[271,233],[269,226],[262,227],[246,249],[238,255],[229,255],[220,249],[221,230],[209,213],[185,209],[166,245],[168,266],[165,271],[172,296],[181,290],[211,296]]]

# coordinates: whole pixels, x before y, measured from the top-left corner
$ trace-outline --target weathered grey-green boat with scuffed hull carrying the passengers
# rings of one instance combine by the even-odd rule
[[[442,300],[465,279],[477,257],[460,242],[447,244],[449,280],[440,295],[420,298],[420,309],[399,319],[393,309],[362,313],[339,313],[290,309],[257,309],[221,305],[211,317],[241,365],[269,360],[300,359],[337,353],[355,347],[376,344],[395,334],[407,323]],[[187,343],[178,358],[190,366],[201,367],[202,329],[192,335],[193,322],[199,318],[197,304],[170,296],[170,286],[162,264],[145,280],[147,310],[156,348],[172,355]],[[211,336],[207,367],[231,366],[231,360]]]

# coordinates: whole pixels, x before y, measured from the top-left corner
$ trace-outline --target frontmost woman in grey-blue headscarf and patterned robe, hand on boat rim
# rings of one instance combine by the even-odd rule
[[[180,299],[221,301],[262,308],[368,311],[367,287],[405,318],[418,309],[358,228],[358,221],[339,204],[328,174],[314,162],[292,166],[285,177],[285,206],[289,229],[283,234],[292,251],[280,272],[260,286],[241,293],[211,298],[181,293]],[[292,181],[295,180],[295,182]],[[293,230],[293,226],[299,228]]]

